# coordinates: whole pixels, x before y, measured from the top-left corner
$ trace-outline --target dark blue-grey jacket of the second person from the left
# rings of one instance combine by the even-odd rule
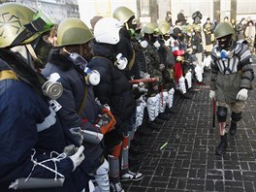
[[[93,88],[85,84],[85,74],[83,71],[68,56],[60,54],[58,48],[52,51],[48,64],[42,71],[45,77],[48,77],[52,73],[59,74],[59,81],[63,86],[63,93],[57,99],[57,102],[62,106],[59,114],[67,126],[69,128],[81,127],[84,130],[100,133],[100,130],[94,126],[98,119],[98,114],[101,114],[101,109],[95,102]],[[85,89],[87,89],[86,98],[82,107],[83,110],[79,114],[78,112],[80,111]],[[90,174],[100,164],[103,146],[101,143],[83,143],[83,145],[84,155],[86,157],[83,166],[85,166],[86,172]]]

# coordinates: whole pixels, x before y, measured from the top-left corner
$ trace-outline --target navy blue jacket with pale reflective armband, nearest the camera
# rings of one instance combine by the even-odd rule
[[[9,70],[0,59],[0,71]],[[48,102],[22,80],[0,80],[0,189],[8,190],[16,178],[27,177],[32,172],[34,160],[41,162],[50,158],[50,152],[62,153],[63,148],[73,144],[70,133]],[[34,150],[32,150],[34,149]],[[44,165],[55,170],[52,161]],[[47,190],[29,191],[80,191],[86,175],[80,168],[75,172],[70,158],[56,162],[57,172],[66,177],[64,186]],[[54,178],[54,173],[36,166],[31,177]],[[59,176],[58,176],[59,177]],[[17,190],[16,190],[17,191]]]

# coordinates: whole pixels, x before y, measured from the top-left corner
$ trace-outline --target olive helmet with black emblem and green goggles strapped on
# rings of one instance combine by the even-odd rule
[[[2,4],[0,12],[0,48],[28,44],[53,26],[42,11],[18,3]]]

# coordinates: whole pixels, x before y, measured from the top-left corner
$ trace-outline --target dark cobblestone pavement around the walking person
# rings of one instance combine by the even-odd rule
[[[199,91],[191,100],[176,98],[177,113],[160,125],[159,132],[141,138],[146,153],[136,171],[144,178],[123,182],[126,192],[256,191],[256,88],[249,93],[235,138],[228,136],[223,157],[214,154],[219,136],[218,128],[212,128],[208,80],[195,88]]]

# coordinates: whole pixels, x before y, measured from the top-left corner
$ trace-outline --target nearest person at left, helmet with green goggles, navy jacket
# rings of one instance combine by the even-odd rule
[[[52,22],[17,3],[0,5],[0,13],[1,191],[80,192],[88,180],[83,146],[57,114],[59,76],[47,80],[35,70],[35,49]]]

